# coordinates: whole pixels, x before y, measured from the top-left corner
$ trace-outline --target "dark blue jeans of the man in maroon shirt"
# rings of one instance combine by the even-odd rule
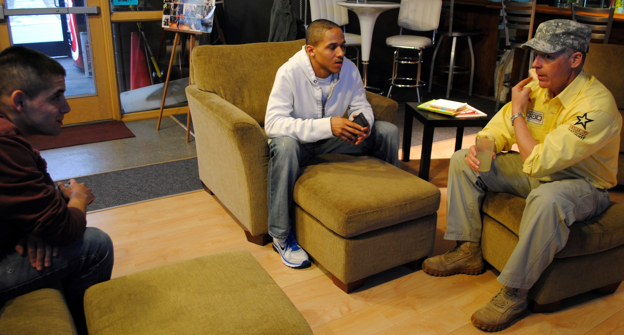
[[[15,251],[9,252],[0,260],[0,303],[40,288],[54,287],[60,281],[76,328],[80,334],[86,334],[84,291],[109,280],[113,262],[113,243],[109,235],[94,227],[87,227],[69,247],[59,248],[50,267],[41,271],[31,267],[27,255],[22,257]]]

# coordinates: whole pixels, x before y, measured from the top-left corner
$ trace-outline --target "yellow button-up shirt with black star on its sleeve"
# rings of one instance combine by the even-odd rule
[[[533,80],[525,120],[537,144],[522,171],[539,181],[588,178],[598,189],[617,184],[622,115],[613,95],[592,75],[581,72],[563,92]],[[511,103],[503,106],[479,134],[494,136],[496,152],[515,143]]]

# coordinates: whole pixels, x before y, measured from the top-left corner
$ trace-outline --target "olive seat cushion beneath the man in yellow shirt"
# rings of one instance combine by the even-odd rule
[[[482,210],[517,236],[525,199],[507,193],[487,192]],[[624,204],[611,202],[602,214],[574,222],[565,247],[555,257],[572,257],[602,252],[624,244]],[[509,241],[509,243],[515,243]]]

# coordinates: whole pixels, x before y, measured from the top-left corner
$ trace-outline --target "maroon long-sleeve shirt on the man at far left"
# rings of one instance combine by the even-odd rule
[[[0,258],[28,233],[64,247],[86,225],[85,214],[54,188],[46,160],[0,111]]]

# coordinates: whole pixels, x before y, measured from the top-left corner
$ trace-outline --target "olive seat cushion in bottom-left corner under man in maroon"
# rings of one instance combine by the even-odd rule
[[[78,334],[61,292],[42,288],[4,303],[0,334]]]

